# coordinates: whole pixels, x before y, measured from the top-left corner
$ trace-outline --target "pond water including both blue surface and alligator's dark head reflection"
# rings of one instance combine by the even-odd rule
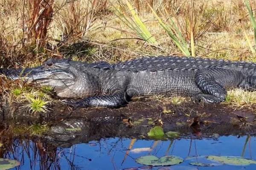
[[[106,118],[106,120],[110,119]],[[208,138],[198,139],[197,136],[191,135],[183,136],[180,139],[154,141],[141,137],[141,134],[145,134],[149,127],[127,128],[122,123],[113,123],[115,121],[120,122],[116,118],[111,119],[111,123],[106,121],[98,124],[71,120],[52,127],[47,136],[30,138],[14,137],[9,133],[10,127],[1,126],[0,143],[3,146],[0,147],[0,157],[20,161],[20,166],[17,167],[19,170],[117,170],[142,166],[137,164],[135,159],[146,155],[157,157],[175,155],[182,158],[198,155],[222,155],[256,159],[253,152],[256,150],[256,137],[253,136],[218,136],[218,134],[214,134],[209,135]],[[140,134],[140,136],[131,137],[131,134]],[[132,150],[134,148],[144,149],[135,151]],[[175,166],[192,165],[183,162]],[[152,167],[151,169],[157,170],[158,168]],[[220,167],[200,167],[198,169],[208,170],[209,168],[218,170]],[[224,165],[222,168],[241,170],[245,166]],[[255,168],[254,164],[246,166],[246,169],[249,170]]]

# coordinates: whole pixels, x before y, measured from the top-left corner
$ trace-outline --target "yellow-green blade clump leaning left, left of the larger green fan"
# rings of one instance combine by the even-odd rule
[[[157,41],[155,38],[151,35],[151,33],[146,28],[145,24],[142,22],[140,17],[137,15],[134,8],[131,6],[131,4],[128,2],[128,0],[125,0],[125,4],[119,3],[119,8],[116,8],[114,6],[114,9],[116,11],[116,16],[123,22],[125,25],[130,27],[133,31],[137,33],[137,35],[140,37],[141,40],[144,40],[148,43],[156,43]]]

